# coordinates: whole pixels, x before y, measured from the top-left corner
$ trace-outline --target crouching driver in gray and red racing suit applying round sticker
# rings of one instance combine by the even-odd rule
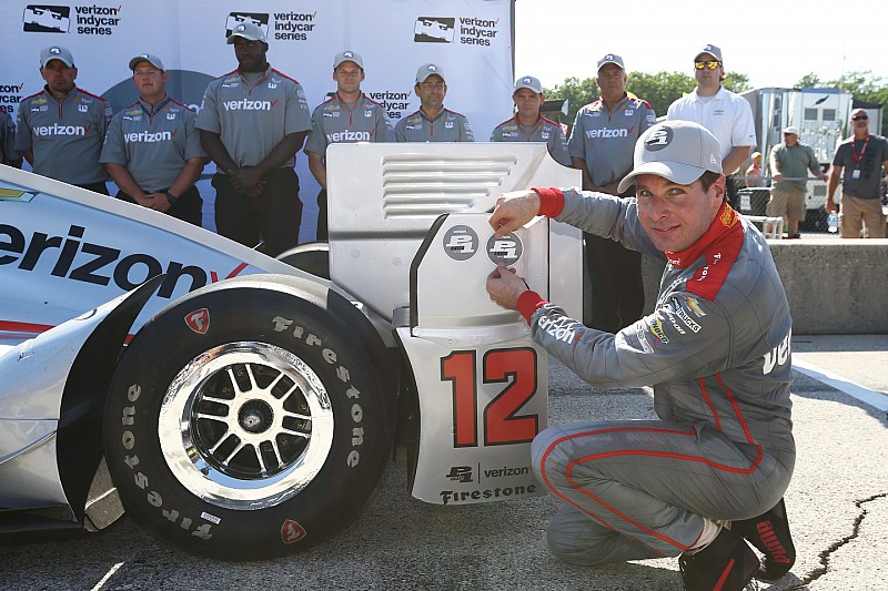
[[[789,307],[765,240],[725,200],[719,154],[703,126],[667,121],[638,139],[619,183],[635,198],[534,188],[491,216],[497,235],[547,215],[666,261],[654,312],[616,334],[567,317],[504,266],[487,292],[593,386],[654,387],[658,420],[534,439],[536,476],[563,501],[552,551],[577,564],[679,556],[690,591],[740,590],[795,561],[783,501],[795,465]]]

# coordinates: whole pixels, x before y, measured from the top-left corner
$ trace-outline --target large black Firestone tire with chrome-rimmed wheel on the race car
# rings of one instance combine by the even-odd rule
[[[127,511],[188,551],[266,559],[343,529],[394,439],[385,346],[343,296],[252,275],[203,287],[149,320],[104,412]]]

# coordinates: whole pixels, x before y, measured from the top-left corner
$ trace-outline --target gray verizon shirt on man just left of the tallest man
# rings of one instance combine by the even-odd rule
[[[153,106],[139,100],[111,120],[99,162],[123,164],[147,193],[170,188],[189,160],[206,156],[196,118],[170,98]]]

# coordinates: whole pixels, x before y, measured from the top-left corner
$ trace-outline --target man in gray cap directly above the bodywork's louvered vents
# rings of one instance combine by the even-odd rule
[[[421,65],[413,88],[420,109],[395,125],[398,142],[474,142],[475,135],[465,115],[444,109],[447,82],[444,71],[434,63]]]

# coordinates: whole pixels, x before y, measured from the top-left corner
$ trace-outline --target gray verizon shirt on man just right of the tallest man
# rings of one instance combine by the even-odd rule
[[[323,156],[330,144],[393,141],[392,124],[380,103],[361,94],[357,102],[347,104],[334,95],[312,113],[312,134],[305,142],[305,152]]]

